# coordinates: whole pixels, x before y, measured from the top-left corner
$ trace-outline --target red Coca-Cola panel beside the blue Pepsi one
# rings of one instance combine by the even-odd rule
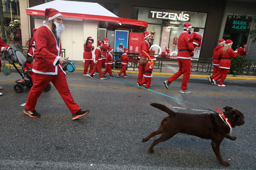
[[[140,53],[140,44],[144,40],[143,33],[131,32],[129,36],[129,53]]]

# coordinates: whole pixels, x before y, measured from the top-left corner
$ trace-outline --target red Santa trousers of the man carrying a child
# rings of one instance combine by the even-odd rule
[[[187,84],[189,82],[190,73],[191,73],[191,60],[190,59],[180,59],[178,58],[179,71],[175,73],[172,77],[168,78],[168,81],[171,83],[178,77],[183,74],[181,88],[182,90],[187,89]]]

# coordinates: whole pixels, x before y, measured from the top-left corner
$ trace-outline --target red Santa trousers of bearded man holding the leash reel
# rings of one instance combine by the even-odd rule
[[[66,75],[63,73],[63,71],[61,71],[61,68],[58,67],[57,75],[37,73],[34,74],[33,86],[29,91],[29,96],[25,106],[25,109],[27,111],[35,110],[37,100],[49,82],[52,82],[55,88],[58,90],[71,114],[75,114],[77,111],[80,110],[79,105],[74,102],[74,99],[70,93],[67,85]]]

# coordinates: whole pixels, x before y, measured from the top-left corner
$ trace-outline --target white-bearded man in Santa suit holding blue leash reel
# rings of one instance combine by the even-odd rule
[[[45,25],[46,18],[49,23]],[[40,117],[35,110],[38,97],[44,91],[49,82],[55,86],[72,114],[72,120],[84,116],[89,111],[81,110],[70,93],[67,85],[66,72],[63,71],[66,59],[61,56],[60,36],[64,30],[63,17],[59,11],[53,8],[45,9],[44,26],[35,31],[35,62],[32,71],[34,72],[34,83],[29,91],[24,113],[30,117]]]

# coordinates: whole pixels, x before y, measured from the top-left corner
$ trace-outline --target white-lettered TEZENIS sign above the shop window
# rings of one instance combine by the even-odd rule
[[[149,9],[148,18],[172,20],[172,21],[190,21],[191,12],[175,11],[164,9]]]

